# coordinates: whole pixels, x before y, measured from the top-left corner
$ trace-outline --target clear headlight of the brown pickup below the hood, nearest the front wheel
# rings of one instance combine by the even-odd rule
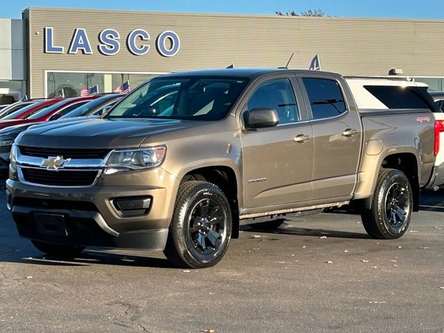
[[[113,151],[106,162],[105,174],[158,167],[165,153],[166,146]]]

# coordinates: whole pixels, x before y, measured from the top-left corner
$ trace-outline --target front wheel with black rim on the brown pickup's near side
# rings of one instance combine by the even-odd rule
[[[232,213],[223,191],[210,182],[185,182],[178,190],[164,254],[181,268],[211,267],[225,255],[231,232]]]

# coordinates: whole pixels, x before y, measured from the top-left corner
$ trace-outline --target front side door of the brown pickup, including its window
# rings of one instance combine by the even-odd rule
[[[273,108],[280,119],[276,127],[241,131],[245,208],[275,210],[312,198],[311,125],[296,76],[290,75],[261,78],[242,101],[241,119],[255,108]]]

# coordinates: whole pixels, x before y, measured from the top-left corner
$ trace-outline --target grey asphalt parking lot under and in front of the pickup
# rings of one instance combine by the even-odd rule
[[[368,239],[358,215],[323,213],[244,230],[196,271],[158,252],[46,257],[17,236],[4,199],[3,333],[444,332],[443,191],[422,195],[402,239]]]

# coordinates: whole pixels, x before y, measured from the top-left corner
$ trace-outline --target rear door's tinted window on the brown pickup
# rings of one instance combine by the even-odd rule
[[[302,78],[311,105],[313,119],[336,117],[347,111],[341,87],[335,80]]]

